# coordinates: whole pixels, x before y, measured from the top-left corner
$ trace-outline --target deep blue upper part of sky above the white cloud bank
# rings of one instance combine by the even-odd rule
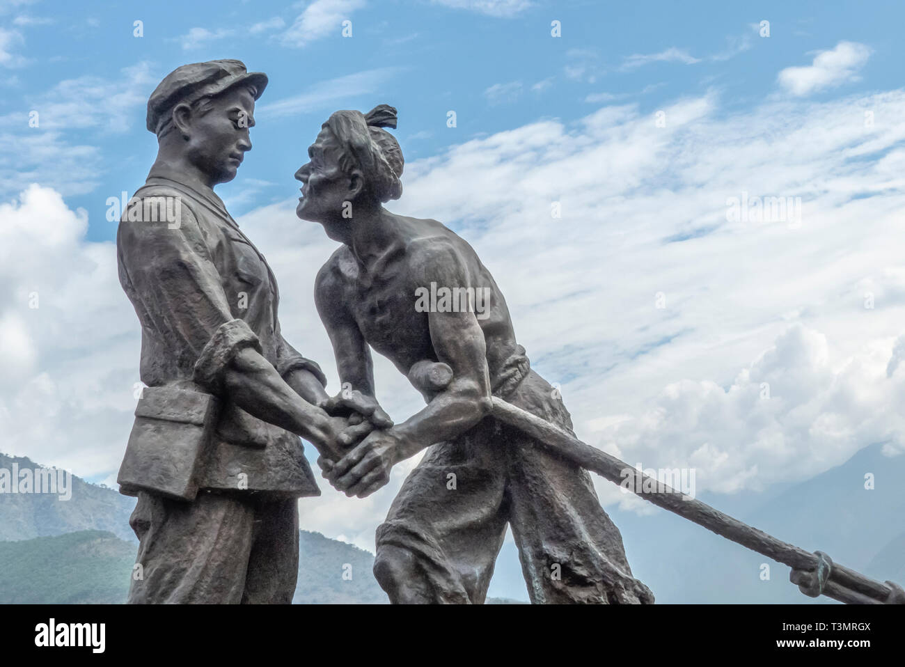
[[[843,39],[869,42],[877,52],[871,67],[860,72],[862,85],[893,87],[903,14],[900,4],[883,2],[754,7],[336,0],[314,3],[335,14],[328,12],[322,24],[312,13],[312,27],[301,34],[294,25],[310,5],[165,0],[151,11],[150,5],[128,3],[5,2],[0,25],[12,36],[4,48],[16,65],[3,72],[0,114],[19,119],[25,110],[40,113],[52,100],[78,99],[80,86],[61,92],[64,81],[103,89],[82,109],[71,104],[46,108],[40,117],[45,129],[33,129],[35,134],[52,131],[62,123],[65,147],[91,148],[86,183],[60,183],[71,177],[69,170],[42,181],[70,193],[67,203],[90,215],[88,238],[100,240],[115,233],[102,215],[107,197],[134,191],[156,148],[137,102],[185,62],[239,58],[271,78],[259,102],[254,153],[243,178],[222,188],[229,199],[249,182],[259,184],[253,202],[236,202],[234,213],[242,214],[292,190],[291,174],[312,132],[335,108],[395,105],[398,137],[412,160],[536,119],[574,120],[611,100],[632,100],[653,113],[666,100],[719,89],[726,110],[744,108],[776,90],[776,71],[806,64],[807,52]],[[334,16],[352,22],[351,38],[342,36],[343,19]],[[133,34],[138,20],[143,22],[140,38]],[[551,36],[553,20],[562,24],[558,39]],[[770,21],[768,39],[752,29],[762,20]],[[632,60],[664,53],[661,61]],[[136,103],[111,100],[116,95]],[[307,101],[294,110],[266,112],[302,95]],[[457,113],[455,129],[446,127],[449,110]],[[98,119],[71,119],[71,113]],[[14,124],[5,123],[6,131],[28,130]],[[10,185],[0,186],[6,195],[15,194]]]

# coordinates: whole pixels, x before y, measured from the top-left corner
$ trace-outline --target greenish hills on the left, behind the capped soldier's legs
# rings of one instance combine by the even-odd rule
[[[0,468],[39,468],[0,454]],[[121,603],[138,541],[129,528],[135,499],[72,476],[70,500],[0,494],[0,603]],[[386,604],[374,555],[320,533],[299,533],[299,584],[293,602]],[[346,567],[349,566],[349,567]],[[345,569],[344,569],[345,567]],[[343,578],[344,572],[349,572]]]

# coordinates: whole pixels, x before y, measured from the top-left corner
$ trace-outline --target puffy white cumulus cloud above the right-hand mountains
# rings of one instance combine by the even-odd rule
[[[641,414],[603,429],[601,444],[630,465],[694,468],[698,493],[807,479],[865,444],[901,447],[905,382],[886,378],[889,343],[834,360],[823,333],[792,326],[728,387],[665,386]]]

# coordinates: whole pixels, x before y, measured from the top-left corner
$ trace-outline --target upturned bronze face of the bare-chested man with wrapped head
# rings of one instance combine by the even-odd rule
[[[302,220],[326,223],[351,215],[351,177],[339,167],[342,149],[329,128],[320,130],[308,148],[310,162],[295,173],[301,181],[301,196],[295,212]]]

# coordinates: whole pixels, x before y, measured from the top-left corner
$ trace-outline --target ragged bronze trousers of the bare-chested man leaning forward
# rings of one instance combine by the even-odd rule
[[[571,433],[534,371],[507,400]],[[507,523],[532,603],[653,603],[588,473],[492,417],[428,448],[377,529],[375,576],[393,603],[482,604]]]

